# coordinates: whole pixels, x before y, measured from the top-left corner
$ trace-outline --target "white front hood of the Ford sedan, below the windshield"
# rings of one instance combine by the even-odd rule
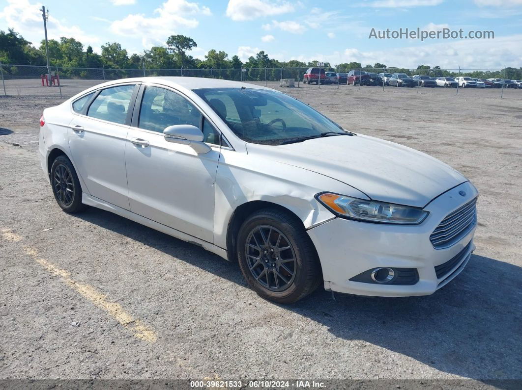
[[[418,150],[365,135],[277,146],[248,143],[247,152],[259,160],[268,158],[323,174],[371,199],[408,206],[423,207],[467,181],[455,169]]]

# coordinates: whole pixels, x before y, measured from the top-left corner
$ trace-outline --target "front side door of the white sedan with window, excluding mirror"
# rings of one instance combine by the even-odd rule
[[[184,96],[143,88],[125,148],[131,211],[212,243],[220,135]],[[163,130],[174,124],[203,129],[212,150],[198,155],[188,145],[166,141]]]

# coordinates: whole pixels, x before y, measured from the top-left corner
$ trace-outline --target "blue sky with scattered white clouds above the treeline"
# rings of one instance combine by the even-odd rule
[[[72,36],[94,51],[117,41],[129,53],[191,36],[204,59],[210,49],[243,60],[264,50],[271,58],[331,64],[495,69],[522,67],[522,0],[46,0],[49,37]],[[43,37],[42,3],[0,0],[0,30],[27,40]],[[376,30],[492,30],[494,39],[369,39]]]

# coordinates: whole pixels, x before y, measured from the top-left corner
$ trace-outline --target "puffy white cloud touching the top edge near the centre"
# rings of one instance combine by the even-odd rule
[[[232,20],[253,20],[263,16],[286,14],[294,6],[280,0],[230,0],[227,16]]]

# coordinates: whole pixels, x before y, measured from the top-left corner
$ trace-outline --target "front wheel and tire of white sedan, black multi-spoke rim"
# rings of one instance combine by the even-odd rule
[[[241,225],[237,250],[244,278],[265,299],[291,304],[312,293],[322,281],[312,240],[290,212],[266,208],[253,213]]]

